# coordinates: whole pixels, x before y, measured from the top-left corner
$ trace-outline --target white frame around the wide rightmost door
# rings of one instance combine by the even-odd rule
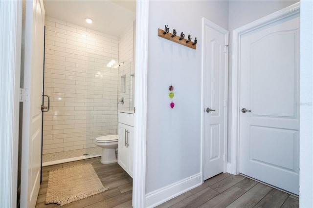
[[[232,106],[231,106],[231,165],[228,172],[231,174],[239,174],[239,104],[240,104],[240,43],[241,36],[253,31],[257,28],[263,27],[267,24],[273,23],[290,17],[300,12],[300,2],[292,4],[284,9],[274,12],[259,20],[252,21],[242,27],[233,30],[233,54],[232,54]]]

